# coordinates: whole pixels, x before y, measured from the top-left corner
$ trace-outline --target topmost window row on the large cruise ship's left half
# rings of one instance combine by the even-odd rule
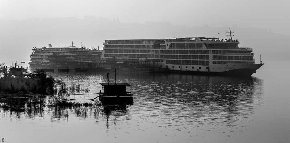
[[[164,44],[164,40],[108,40],[107,44]]]

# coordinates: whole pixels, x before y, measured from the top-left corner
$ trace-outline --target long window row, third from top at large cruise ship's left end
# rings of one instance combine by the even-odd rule
[[[242,50],[133,50],[133,49],[105,49],[105,53],[152,53],[152,54],[224,54],[250,53]]]

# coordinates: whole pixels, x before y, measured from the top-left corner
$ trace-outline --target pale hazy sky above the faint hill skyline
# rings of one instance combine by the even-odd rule
[[[290,34],[286,0],[0,0],[0,18],[119,17],[121,22],[169,21],[173,25],[265,28]]]

